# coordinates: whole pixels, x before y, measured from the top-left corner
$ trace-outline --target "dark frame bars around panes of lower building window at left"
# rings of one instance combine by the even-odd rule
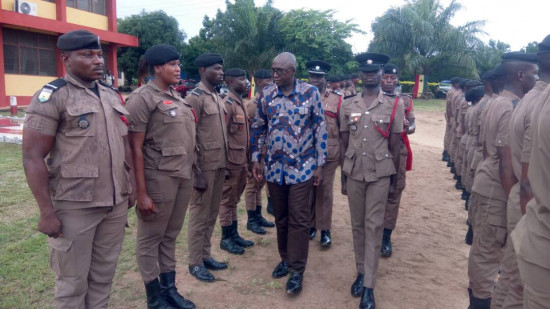
[[[4,41],[3,44],[2,44],[3,49],[4,49],[5,46],[10,46],[12,48],[17,49],[17,73],[5,72],[6,74],[17,74],[17,75],[27,75],[27,76],[57,76],[58,75],[58,72],[57,72],[57,56],[56,56],[57,53],[56,53],[55,44],[53,44],[53,46],[50,46],[50,47],[45,47],[43,44],[40,44],[41,43],[40,38],[41,38],[42,35],[55,37],[54,35],[38,33],[38,32],[31,32],[31,31],[24,31],[24,30],[19,30],[19,29],[12,29],[12,28],[3,28],[2,29],[3,34],[5,33],[6,30],[7,31],[14,31],[17,34],[17,42],[16,43],[12,43],[12,42],[6,43]],[[26,45],[25,43],[21,44],[20,36],[21,36],[21,34],[26,34],[26,33],[27,34],[32,33],[32,34],[35,35],[35,40],[36,40],[35,46]],[[57,41],[57,37],[55,37],[55,40],[53,40],[52,42],[55,42],[55,41]],[[37,74],[29,74],[29,73],[23,73],[22,72],[21,62],[25,61],[25,59],[23,59],[23,57],[21,56],[22,55],[22,52],[21,52],[22,48],[27,49],[27,50],[28,49],[34,49],[35,50],[34,53],[35,53],[35,56],[36,56],[36,63],[37,63],[37,67],[38,67]],[[56,63],[55,72],[45,72],[47,68],[49,69],[49,66],[50,66],[50,65],[48,65],[49,61],[46,61],[46,63],[44,64],[44,67],[42,67],[40,65],[40,63],[41,63],[41,61],[40,61],[40,56],[41,56],[40,51],[41,50],[48,51],[48,52],[53,52],[54,58],[51,59],[50,61],[54,61],[54,63]],[[4,55],[4,62],[5,62],[4,63],[4,69],[6,69],[6,64],[7,64],[6,55]],[[41,73],[44,73],[44,74],[41,74]]]

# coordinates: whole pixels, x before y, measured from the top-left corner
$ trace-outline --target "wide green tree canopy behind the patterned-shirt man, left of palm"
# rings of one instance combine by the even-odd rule
[[[351,21],[334,19],[334,11],[292,10],[287,13],[268,1],[256,7],[253,0],[226,1],[226,10],[214,18],[204,17],[198,36],[184,47],[183,67],[196,74],[193,59],[203,52],[217,52],[225,67],[240,67],[249,73],[269,68],[280,52],[296,55],[298,75],[305,76],[307,60],[324,60],[333,72],[349,72],[351,46],[344,40],[354,32],[362,33]],[[351,65],[352,66],[352,65]]]

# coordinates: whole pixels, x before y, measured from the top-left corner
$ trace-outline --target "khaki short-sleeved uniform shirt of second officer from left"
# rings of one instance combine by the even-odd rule
[[[144,132],[145,169],[191,179],[195,158],[195,116],[172,88],[170,94],[150,81],[127,99],[130,132]]]

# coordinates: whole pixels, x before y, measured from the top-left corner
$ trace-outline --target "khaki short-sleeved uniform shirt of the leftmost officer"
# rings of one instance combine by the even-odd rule
[[[46,160],[56,209],[114,206],[131,191],[123,137],[128,115],[120,97],[99,83],[99,97],[70,75],[67,84],[41,103],[38,91],[25,127],[55,136]],[[124,118],[125,120],[125,118]]]

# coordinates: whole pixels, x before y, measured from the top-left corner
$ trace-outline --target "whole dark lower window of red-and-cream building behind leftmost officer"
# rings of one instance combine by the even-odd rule
[[[6,74],[57,76],[57,37],[36,32],[2,29]]]

